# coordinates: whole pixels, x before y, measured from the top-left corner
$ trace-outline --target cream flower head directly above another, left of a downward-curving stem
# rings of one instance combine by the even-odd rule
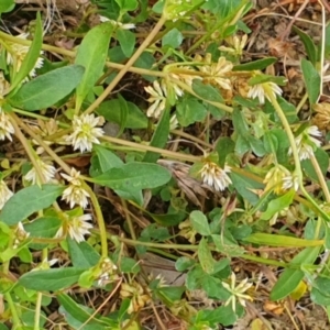
[[[81,180],[79,179],[80,172],[72,168],[70,175],[61,174],[68,180],[68,187],[63,191],[62,200],[65,200],[73,208],[75,205],[79,205],[85,209],[88,205],[89,194],[82,188]]]

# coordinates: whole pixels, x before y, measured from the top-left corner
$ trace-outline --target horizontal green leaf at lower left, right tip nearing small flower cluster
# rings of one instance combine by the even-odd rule
[[[77,283],[82,272],[75,267],[34,271],[21,276],[19,283],[31,290],[56,292]]]

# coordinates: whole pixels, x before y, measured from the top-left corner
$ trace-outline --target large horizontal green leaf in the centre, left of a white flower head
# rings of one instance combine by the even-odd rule
[[[112,189],[135,191],[163,186],[169,179],[170,173],[160,165],[129,163],[121,168],[111,168],[91,180]]]

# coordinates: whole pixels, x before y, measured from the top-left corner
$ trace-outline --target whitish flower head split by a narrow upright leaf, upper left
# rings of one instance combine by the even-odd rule
[[[29,36],[28,33],[22,33],[16,35],[16,37],[19,38],[23,38],[26,40]],[[8,65],[13,65],[15,67],[15,70],[19,72],[22,63],[30,50],[30,46],[25,46],[25,45],[21,45],[18,43],[13,43],[13,42],[9,42],[8,43],[10,51],[7,52],[7,64]],[[41,51],[41,55],[43,54],[43,51]],[[42,57],[38,57],[34,68],[31,70],[31,73],[29,74],[29,77],[34,77],[35,76],[35,69],[36,68],[41,68],[44,64],[44,59]]]

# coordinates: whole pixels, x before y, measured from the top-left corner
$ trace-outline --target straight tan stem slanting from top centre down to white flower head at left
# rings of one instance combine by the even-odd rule
[[[97,100],[88,107],[88,109],[85,111],[85,113],[91,113],[110,95],[110,92],[113,90],[113,88],[118,85],[118,82],[122,79],[122,77],[130,70],[130,68],[133,66],[133,64],[140,57],[140,55],[144,52],[144,50],[150,45],[150,43],[153,41],[154,36],[158,33],[158,31],[162,29],[162,26],[164,25],[165,22],[166,22],[166,19],[164,16],[162,16],[160,19],[160,21],[157,22],[157,24],[154,26],[153,31],[148,34],[148,36],[140,45],[140,47],[134,53],[134,55],[128,61],[128,63],[124,65],[124,67],[118,73],[118,75],[114,77],[114,79],[108,85],[108,87],[97,98]],[[76,111],[77,111],[77,109],[76,109]]]

